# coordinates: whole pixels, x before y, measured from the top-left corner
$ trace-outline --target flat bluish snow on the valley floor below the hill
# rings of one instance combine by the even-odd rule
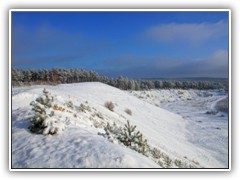
[[[216,103],[227,95],[219,91],[208,91],[211,96],[199,96],[203,92],[193,91],[192,100],[165,103],[162,107],[185,117],[188,121],[188,141],[206,149],[223,167],[228,167],[228,114],[217,112],[215,108]]]

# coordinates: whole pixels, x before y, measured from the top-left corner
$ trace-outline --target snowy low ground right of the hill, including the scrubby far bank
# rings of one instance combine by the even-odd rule
[[[134,96],[181,115],[186,121],[189,142],[206,150],[228,167],[228,95],[224,90],[132,91]],[[218,102],[224,112],[218,110]],[[225,103],[223,105],[223,102]],[[202,157],[208,159],[207,156]]]

